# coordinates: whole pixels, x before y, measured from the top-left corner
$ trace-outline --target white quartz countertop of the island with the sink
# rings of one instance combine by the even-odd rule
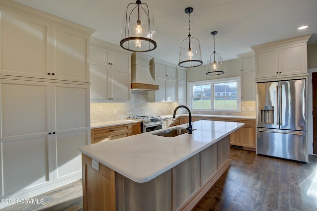
[[[135,182],[148,182],[182,161],[196,155],[242,127],[244,123],[200,120],[192,123],[192,134],[176,137],[141,133],[111,141],[82,146],[83,154]],[[182,124],[167,129],[182,127]]]

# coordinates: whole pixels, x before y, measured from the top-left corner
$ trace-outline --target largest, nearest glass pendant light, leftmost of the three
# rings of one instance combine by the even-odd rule
[[[153,14],[146,3],[129,3],[124,12],[121,48],[132,52],[149,52],[157,48]]]

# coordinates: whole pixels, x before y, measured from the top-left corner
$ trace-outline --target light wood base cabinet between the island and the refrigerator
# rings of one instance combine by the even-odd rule
[[[243,122],[245,125],[230,134],[230,145],[255,150],[256,148],[256,121],[255,119],[221,118],[221,121]]]

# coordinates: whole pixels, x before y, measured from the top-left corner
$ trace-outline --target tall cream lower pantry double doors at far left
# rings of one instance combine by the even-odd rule
[[[81,174],[89,85],[0,79],[0,99],[2,199]]]

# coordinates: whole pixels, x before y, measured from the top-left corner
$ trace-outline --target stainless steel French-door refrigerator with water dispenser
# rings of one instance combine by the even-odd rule
[[[257,154],[308,162],[306,79],[257,83]]]

